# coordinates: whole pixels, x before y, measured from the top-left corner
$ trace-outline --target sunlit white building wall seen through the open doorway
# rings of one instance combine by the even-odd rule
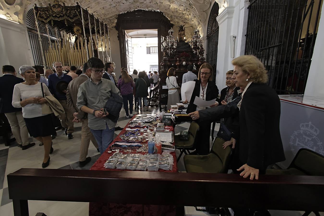
[[[133,68],[137,71],[150,71],[150,65],[158,65],[158,55],[147,54],[146,47],[157,47],[156,38],[132,38]],[[133,72],[130,72],[131,74]],[[153,73],[153,71],[152,71]]]

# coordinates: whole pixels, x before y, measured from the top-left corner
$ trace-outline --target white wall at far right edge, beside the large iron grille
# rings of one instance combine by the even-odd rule
[[[321,13],[324,12],[322,7]],[[305,95],[324,97],[323,89],[323,61],[324,61],[324,19],[319,19],[318,32],[315,41],[315,47],[312,57],[312,62],[310,63]]]

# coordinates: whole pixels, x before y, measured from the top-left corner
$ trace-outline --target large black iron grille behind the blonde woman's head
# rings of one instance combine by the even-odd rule
[[[265,65],[269,86],[304,94],[322,0],[250,0],[245,54]]]

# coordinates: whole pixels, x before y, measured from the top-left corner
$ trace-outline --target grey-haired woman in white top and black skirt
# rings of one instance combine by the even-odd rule
[[[41,104],[47,103],[44,97],[51,95],[47,86],[35,81],[35,69],[28,65],[19,68],[20,75],[25,82],[14,87],[12,106],[22,107],[22,114],[30,136],[44,143],[44,160],[42,167],[50,163],[50,153],[53,152],[51,135],[55,133],[50,114],[42,114]],[[43,91],[42,91],[43,87]],[[21,99],[21,101],[20,101]]]

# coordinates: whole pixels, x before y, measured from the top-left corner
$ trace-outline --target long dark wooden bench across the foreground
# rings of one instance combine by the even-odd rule
[[[7,179],[15,216],[29,215],[28,200],[324,211],[324,176],[259,177],[251,181],[235,174],[22,168]],[[29,182],[28,187],[22,182]],[[142,187],[158,196],[138,199]]]

